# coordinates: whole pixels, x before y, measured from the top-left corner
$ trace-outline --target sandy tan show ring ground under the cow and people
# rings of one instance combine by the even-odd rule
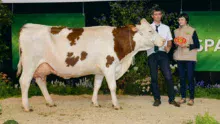
[[[166,96],[162,105],[153,107],[151,96],[118,96],[122,110],[114,110],[109,95],[99,95],[101,108],[91,105],[90,95],[52,95],[57,107],[47,107],[42,96],[30,98],[33,112],[23,112],[21,98],[0,100],[0,123],[14,119],[19,124],[182,124],[195,120],[197,114],[208,112],[220,121],[220,100],[195,99],[194,106],[169,105]],[[180,98],[176,98],[179,100]]]

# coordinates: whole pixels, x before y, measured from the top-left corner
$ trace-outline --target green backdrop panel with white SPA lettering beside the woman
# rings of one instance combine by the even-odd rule
[[[220,12],[187,13],[201,44],[196,70],[220,71]]]

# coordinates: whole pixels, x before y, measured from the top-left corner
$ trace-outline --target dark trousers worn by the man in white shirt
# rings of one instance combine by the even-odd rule
[[[151,54],[148,57],[148,65],[150,67],[151,89],[154,99],[160,100],[160,91],[158,87],[158,67],[160,67],[160,70],[163,73],[167,82],[169,102],[173,101],[175,99],[174,85],[167,53],[159,51],[157,53]]]

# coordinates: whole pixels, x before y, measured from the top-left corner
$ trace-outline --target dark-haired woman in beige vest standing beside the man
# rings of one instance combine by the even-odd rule
[[[176,44],[177,50],[174,52],[174,59],[177,61],[180,76],[180,104],[186,103],[186,77],[188,78],[188,86],[190,99],[188,105],[194,104],[194,69],[197,61],[197,49],[199,49],[199,39],[194,28],[189,26],[189,16],[186,13],[180,14],[178,17],[179,28],[174,31],[175,37],[181,37],[186,40],[185,44]],[[187,71],[187,76],[186,72]]]

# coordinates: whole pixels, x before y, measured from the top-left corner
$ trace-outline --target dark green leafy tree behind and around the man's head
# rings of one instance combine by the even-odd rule
[[[110,15],[107,17],[95,17],[95,21],[100,25],[123,26],[128,24],[138,24],[142,18],[152,22],[151,13],[154,8],[159,7],[155,4],[150,6],[150,0],[140,2],[110,2]],[[163,11],[163,23],[170,26],[173,31],[178,26],[177,13],[166,13]]]

